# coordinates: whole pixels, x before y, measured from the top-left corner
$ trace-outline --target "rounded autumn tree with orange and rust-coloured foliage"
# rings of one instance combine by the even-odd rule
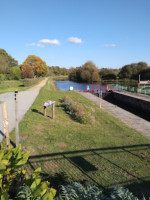
[[[33,78],[34,76],[46,76],[47,73],[48,67],[46,63],[38,56],[30,55],[22,64],[23,78]]]

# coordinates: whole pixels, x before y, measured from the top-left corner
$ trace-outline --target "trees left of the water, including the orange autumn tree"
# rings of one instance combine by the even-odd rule
[[[47,66],[40,57],[29,55],[26,60],[18,65],[4,49],[0,49],[0,80],[20,80],[52,75],[68,75],[69,70],[59,66]]]

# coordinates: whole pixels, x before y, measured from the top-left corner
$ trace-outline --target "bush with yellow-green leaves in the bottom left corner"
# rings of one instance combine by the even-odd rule
[[[14,149],[0,150],[0,199],[48,199],[54,198],[56,191],[49,188],[49,182],[42,182],[41,169],[36,169],[27,178],[22,169],[29,157],[23,153],[21,146]]]

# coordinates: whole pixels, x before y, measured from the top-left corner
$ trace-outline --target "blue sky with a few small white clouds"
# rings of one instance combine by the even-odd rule
[[[150,0],[0,0],[0,48],[22,64],[150,65]]]

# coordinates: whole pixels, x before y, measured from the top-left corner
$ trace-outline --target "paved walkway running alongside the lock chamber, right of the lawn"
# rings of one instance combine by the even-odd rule
[[[79,92],[89,100],[99,105],[99,98],[88,92]],[[102,108],[114,115],[116,118],[123,121],[129,127],[137,130],[142,135],[150,139],[150,122],[116,106],[105,100],[102,100]]]

